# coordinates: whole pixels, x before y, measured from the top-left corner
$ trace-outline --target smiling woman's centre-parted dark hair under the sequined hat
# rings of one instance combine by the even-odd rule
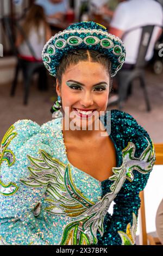
[[[57,76],[59,86],[62,81],[62,74],[64,74],[65,70],[72,64],[78,64],[80,61],[90,60],[90,62],[97,62],[104,66],[104,68],[108,71],[110,76],[110,90],[111,90],[111,62],[105,54],[99,53],[93,50],[80,49],[76,51],[67,52],[61,59],[60,64],[57,69]]]

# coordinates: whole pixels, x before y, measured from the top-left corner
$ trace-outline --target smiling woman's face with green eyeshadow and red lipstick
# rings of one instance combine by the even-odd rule
[[[86,130],[99,115],[103,115],[109,96],[109,74],[100,63],[80,61],[71,65],[57,80],[57,94],[61,96],[65,117]],[[66,107],[66,108],[65,108]]]

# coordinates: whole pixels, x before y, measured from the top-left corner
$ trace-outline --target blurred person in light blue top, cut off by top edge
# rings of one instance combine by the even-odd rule
[[[43,7],[49,19],[63,21],[68,9],[68,0],[36,0],[35,4]]]

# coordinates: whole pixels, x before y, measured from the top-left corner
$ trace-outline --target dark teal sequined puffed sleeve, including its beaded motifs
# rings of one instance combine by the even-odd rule
[[[139,192],[145,188],[155,162],[154,145],[147,131],[125,112],[114,111],[111,129],[115,131],[116,144],[122,151],[126,179],[114,199],[114,212],[105,230],[103,243],[135,245],[141,205]]]

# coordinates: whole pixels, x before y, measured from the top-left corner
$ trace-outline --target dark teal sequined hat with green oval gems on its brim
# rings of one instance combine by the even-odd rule
[[[74,23],[52,36],[43,47],[42,59],[50,75],[56,76],[61,58],[68,51],[87,49],[106,54],[111,61],[111,77],[122,68],[126,57],[123,42],[93,21]]]

